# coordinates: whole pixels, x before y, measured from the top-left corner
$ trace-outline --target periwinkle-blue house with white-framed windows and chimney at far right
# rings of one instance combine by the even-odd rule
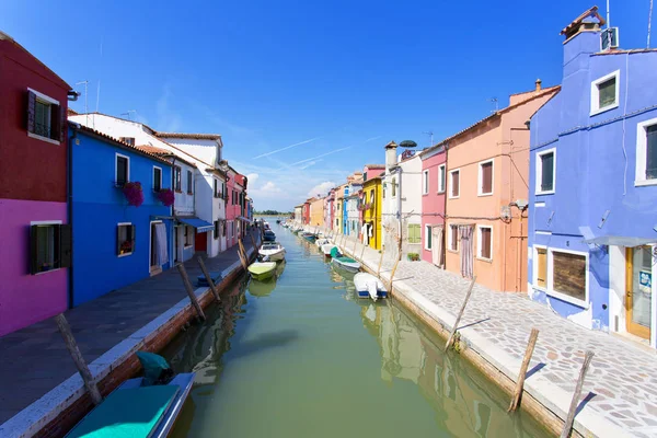
[[[562,31],[561,92],[530,120],[529,295],[655,347],[657,51],[592,8]]]

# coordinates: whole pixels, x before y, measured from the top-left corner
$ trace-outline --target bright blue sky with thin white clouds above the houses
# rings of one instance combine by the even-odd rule
[[[392,139],[425,147],[423,132],[461,130],[491,97],[557,84],[558,33],[595,4],[388,3],[3,0],[0,30],[71,85],[89,80],[90,111],[221,134],[255,208],[290,209],[382,163]],[[648,5],[611,0],[622,47],[645,47]]]

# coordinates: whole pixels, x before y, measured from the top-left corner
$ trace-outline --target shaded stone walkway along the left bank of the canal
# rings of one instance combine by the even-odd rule
[[[247,251],[251,239],[244,241]],[[210,272],[239,261],[238,246],[206,258]],[[192,283],[201,275],[196,258],[185,262]],[[187,297],[177,269],[115,290],[65,315],[88,364]],[[0,426],[77,372],[53,319],[0,337]],[[1,427],[0,427],[1,428]]]

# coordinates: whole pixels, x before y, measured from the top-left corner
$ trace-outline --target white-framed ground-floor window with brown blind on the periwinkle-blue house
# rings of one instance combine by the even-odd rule
[[[587,301],[587,255],[550,250],[549,290],[566,301]]]

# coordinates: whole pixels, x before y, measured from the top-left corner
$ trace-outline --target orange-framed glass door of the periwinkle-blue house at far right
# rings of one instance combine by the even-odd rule
[[[627,332],[649,339],[653,308],[653,249],[625,250],[625,321]]]

